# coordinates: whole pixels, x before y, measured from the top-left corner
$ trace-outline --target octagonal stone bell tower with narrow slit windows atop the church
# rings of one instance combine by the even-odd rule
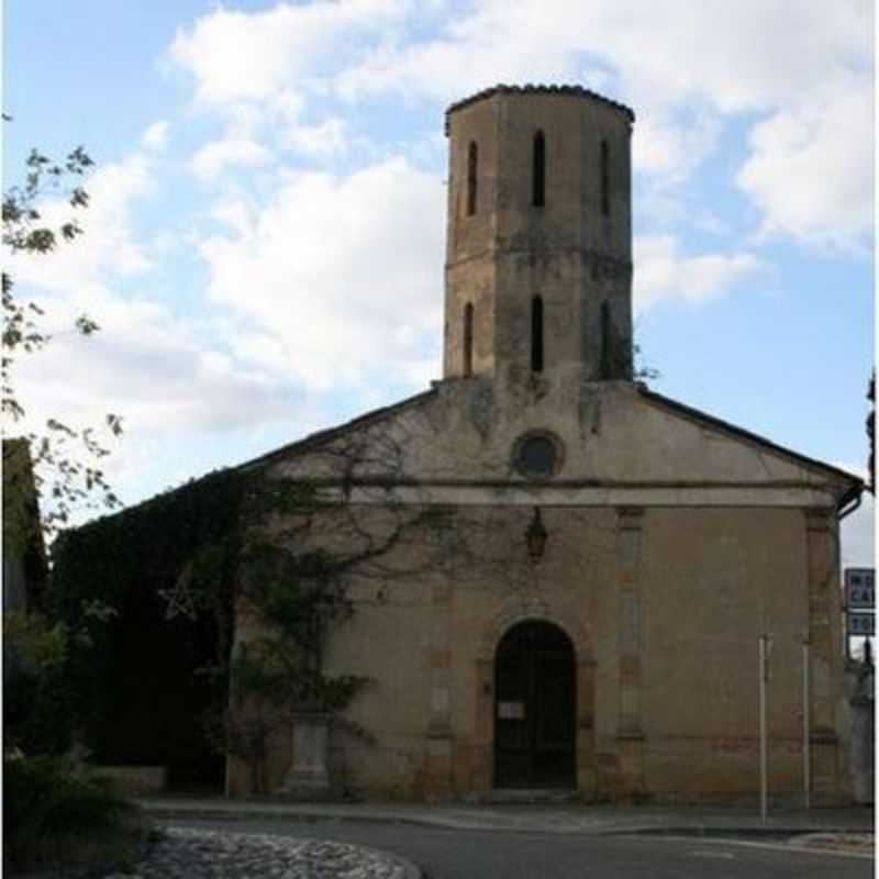
[[[448,109],[445,378],[631,378],[633,121],[576,86]]]

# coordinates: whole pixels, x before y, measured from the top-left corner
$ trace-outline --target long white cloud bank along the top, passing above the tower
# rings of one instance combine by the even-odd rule
[[[636,170],[679,185],[715,148],[724,122],[744,120],[753,131],[738,181],[763,213],[763,232],[864,243],[870,3],[482,0],[424,26],[437,9],[404,0],[220,8],[179,31],[169,57],[192,74],[204,104],[293,125],[293,145],[324,155],[342,141],[301,120],[327,94],[450,102],[498,81],[596,71],[587,86],[638,113]]]

